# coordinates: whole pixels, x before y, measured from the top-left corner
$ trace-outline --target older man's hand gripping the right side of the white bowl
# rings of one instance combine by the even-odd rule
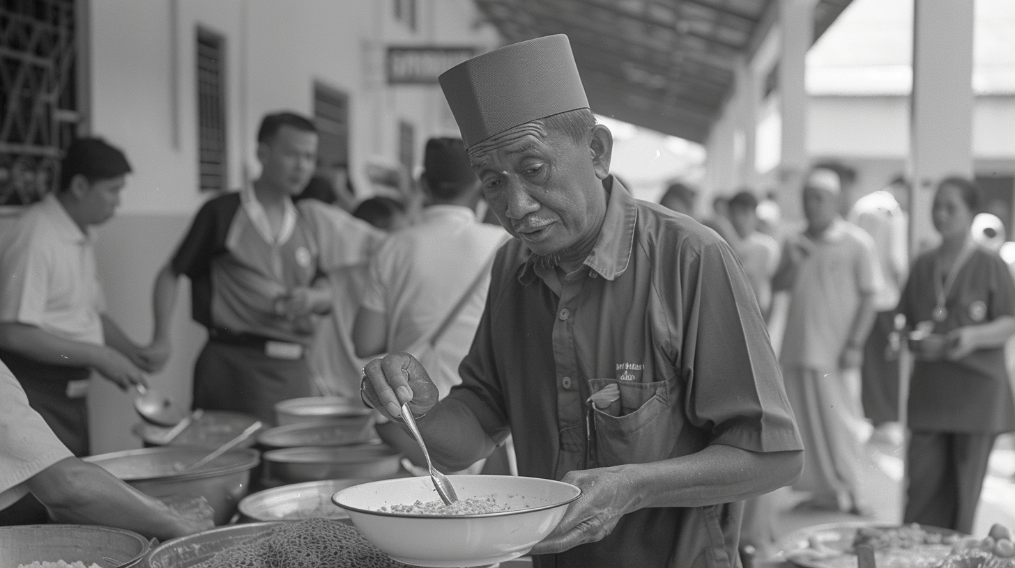
[[[633,510],[630,484],[617,468],[568,472],[565,483],[582,489],[582,496],[567,506],[560,523],[530,554],[556,554],[586,543],[603,540]]]

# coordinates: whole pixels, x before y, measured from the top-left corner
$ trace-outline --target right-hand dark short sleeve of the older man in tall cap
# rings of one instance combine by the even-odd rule
[[[685,318],[678,369],[687,383],[688,420],[712,432],[710,443],[802,449],[764,321],[733,252],[705,242],[698,255],[681,257],[677,301]]]

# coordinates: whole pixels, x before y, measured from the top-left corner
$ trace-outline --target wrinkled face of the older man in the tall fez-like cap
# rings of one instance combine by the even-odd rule
[[[599,231],[612,139],[605,127],[596,129],[582,144],[530,123],[469,150],[500,224],[537,255],[566,251]]]

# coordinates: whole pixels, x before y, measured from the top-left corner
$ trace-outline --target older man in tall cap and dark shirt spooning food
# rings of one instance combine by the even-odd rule
[[[631,198],[609,173],[566,37],[441,77],[473,169],[516,238],[437,404],[406,354],[370,361],[364,398],[409,402],[458,468],[512,433],[520,475],[582,488],[533,549],[539,567],[738,566],[741,500],[793,481],[801,443],[753,292],[730,246]],[[411,401],[411,402],[410,402]]]

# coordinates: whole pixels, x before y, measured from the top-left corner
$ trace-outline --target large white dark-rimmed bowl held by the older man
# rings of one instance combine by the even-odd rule
[[[582,495],[573,485],[512,476],[452,476],[459,499],[493,496],[517,510],[475,515],[413,515],[383,506],[439,499],[428,477],[364,483],[332,497],[388,556],[415,566],[464,567],[504,562],[529,552]],[[522,508],[526,505],[529,508]]]

